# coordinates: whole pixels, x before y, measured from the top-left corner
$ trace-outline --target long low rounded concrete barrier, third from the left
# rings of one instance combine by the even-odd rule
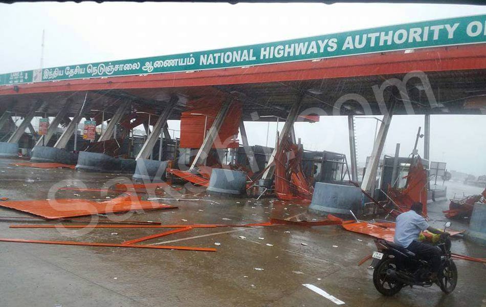
[[[135,160],[115,159],[99,152],[81,151],[78,156],[76,169],[102,172],[134,172]]]

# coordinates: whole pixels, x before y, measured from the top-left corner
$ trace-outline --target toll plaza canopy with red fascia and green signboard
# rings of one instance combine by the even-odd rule
[[[394,85],[394,114],[485,114],[485,69],[486,15],[477,15],[3,74],[0,113],[47,102],[43,114],[55,116],[68,102],[72,115],[85,99],[92,111],[128,99],[161,113],[175,96],[169,119],[180,119],[186,102],[225,96],[242,102],[244,120],[285,118],[297,99],[309,114],[380,115]]]

